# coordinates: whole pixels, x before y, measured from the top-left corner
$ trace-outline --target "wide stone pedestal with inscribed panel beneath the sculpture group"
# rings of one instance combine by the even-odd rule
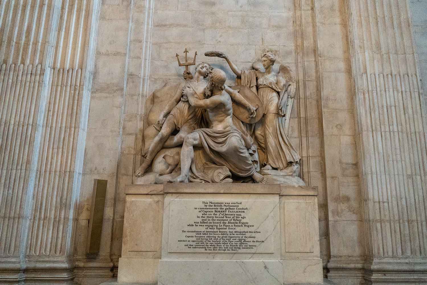
[[[118,282],[322,284],[317,188],[129,185]]]

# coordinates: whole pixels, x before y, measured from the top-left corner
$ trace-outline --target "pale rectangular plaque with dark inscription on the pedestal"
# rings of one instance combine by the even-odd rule
[[[170,253],[273,253],[271,200],[172,200]]]

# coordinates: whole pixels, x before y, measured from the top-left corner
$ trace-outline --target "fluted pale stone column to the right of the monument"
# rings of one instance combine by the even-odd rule
[[[427,281],[425,110],[407,0],[348,0],[368,284]]]

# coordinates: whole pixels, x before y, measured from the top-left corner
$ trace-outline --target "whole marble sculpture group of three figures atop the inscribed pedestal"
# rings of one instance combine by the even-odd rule
[[[265,53],[249,71],[239,71],[224,53],[205,55],[226,59],[237,85],[225,85],[223,71],[213,75],[213,68],[201,63],[194,75],[186,66],[180,84],[156,90],[136,183],[304,185],[300,156],[287,136],[295,96],[290,68],[280,65],[278,73],[273,71],[274,53]]]

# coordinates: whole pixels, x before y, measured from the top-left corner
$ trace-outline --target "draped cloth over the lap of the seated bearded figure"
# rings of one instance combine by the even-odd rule
[[[257,171],[256,146],[250,137],[243,135],[234,126],[224,130],[196,129],[194,132],[200,137],[205,155],[215,165],[225,166],[231,173],[241,177],[252,176]],[[195,153],[191,165],[190,181],[205,176],[200,171],[200,163],[196,161],[197,158]],[[205,168],[206,166],[205,164]]]

